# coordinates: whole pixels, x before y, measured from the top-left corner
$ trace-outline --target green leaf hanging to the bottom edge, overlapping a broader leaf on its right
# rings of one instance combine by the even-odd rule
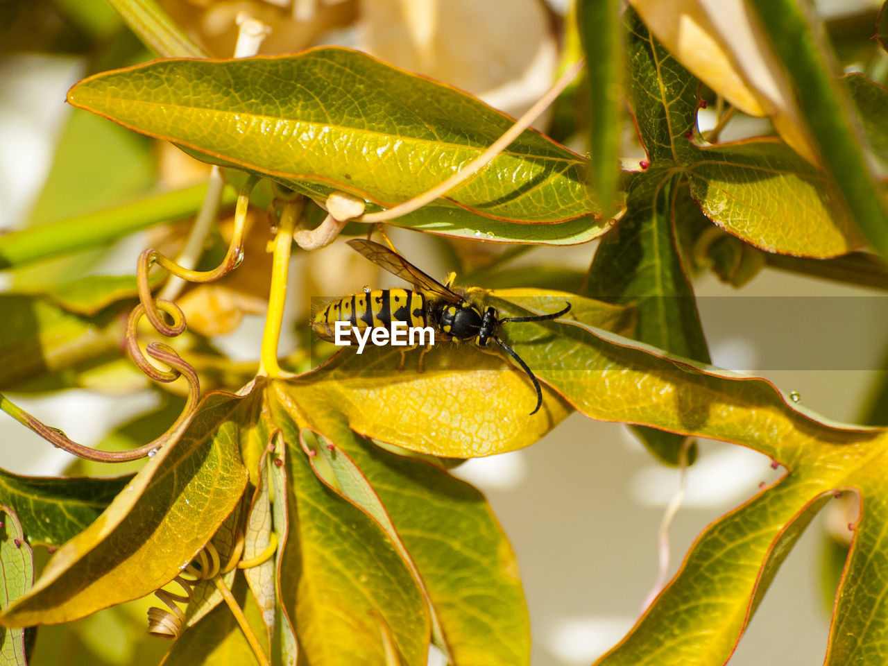
[[[424,664],[430,624],[416,580],[377,523],[317,479],[299,447],[293,421],[301,420],[298,408],[288,390],[271,389],[274,421],[287,442],[291,489],[281,599],[301,654],[317,666],[384,666],[385,644],[374,620],[378,614],[392,630],[402,663]]]

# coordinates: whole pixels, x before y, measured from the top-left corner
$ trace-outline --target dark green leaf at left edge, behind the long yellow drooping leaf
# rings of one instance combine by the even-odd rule
[[[89,527],[131,478],[57,479],[0,469],[0,504],[18,514],[28,543],[58,546]]]

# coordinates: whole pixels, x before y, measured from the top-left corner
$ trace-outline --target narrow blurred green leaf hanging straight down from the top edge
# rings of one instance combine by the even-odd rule
[[[589,76],[589,149],[593,191],[608,212],[620,176],[623,45],[619,0],[581,0],[576,20]]]

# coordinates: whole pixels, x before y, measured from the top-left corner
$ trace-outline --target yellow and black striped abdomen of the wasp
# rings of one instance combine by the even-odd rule
[[[322,340],[335,342],[337,321],[359,330],[377,326],[390,329],[392,321],[403,321],[408,328],[424,327],[425,299],[410,289],[371,289],[327,304],[313,316],[312,330]],[[348,339],[357,344],[353,336]]]

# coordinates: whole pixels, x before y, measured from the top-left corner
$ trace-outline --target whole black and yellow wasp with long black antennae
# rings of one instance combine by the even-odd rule
[[[540,314],[533,317],[500,318],[496,308],[488,306],[482,312],[464,296],[452,291],[450,284],[441,284],[431,276],[409,263],[398,253],[377,242],[356,239],[348,242],[365,258],[386,271],[413,284],[411,289],[369,289],[363,294],[346,296],[329,303],[312,319],[312,329],[321,339],[335,341],[334,328],[337,321],[348,322],[354,329],[363,330],[375,327],[390,327],[392,322],[404,322],[408,327],[431,327],[440,331],[446,340],[473,340],[475,345],[488,347],[491,340],[512,360],[518,363],[536,390],[534,415],[543,404],[543,391],[533,371],[521,357],[500,338],[503,324],[518,321],[546,321],[556,319],[570,310],[570,303],[557,313]],[[366,339],[366,338],[365,338]],[[349,344],[354,344],[353,337]]]

